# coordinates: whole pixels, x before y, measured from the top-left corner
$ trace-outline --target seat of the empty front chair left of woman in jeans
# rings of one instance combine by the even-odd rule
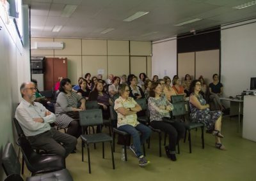
[[[81,139],[84,141],[84,143],[99,143],[113,141],[112,137],[105,133],[82,134]]]

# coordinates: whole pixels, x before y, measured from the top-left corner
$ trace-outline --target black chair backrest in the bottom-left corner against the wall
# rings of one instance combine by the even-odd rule
[[[7,176],[11,174],[20,175],[20,163],[12,143],[7,143],[4,147],[2,164]]]

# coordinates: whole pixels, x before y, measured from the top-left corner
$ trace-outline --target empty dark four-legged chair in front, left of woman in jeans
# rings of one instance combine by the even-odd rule
[[[111,156],[112,156],[112,164],[113,169],[115,169],[115,161],[113,154],[113,145],[112,145],[112,137],[105,133],[96,133],[96,134],[84,134],[83,127],[86,126],[99,126],[103,123],[102,120],[102,110],[85,110],[79,112],[79,122],[82,126],[83,134],[81,135],[82,140],[82,161],[84,161],[84,144],[87,146],[88,151],[88,166],[89,173],[91,173],[91,163],[90,163],[90,143],[100,143],[102,142],[102,157],[104,158],[104,142],[109,142],[111,147]],[[100,130],[101,131],[101,130]]]

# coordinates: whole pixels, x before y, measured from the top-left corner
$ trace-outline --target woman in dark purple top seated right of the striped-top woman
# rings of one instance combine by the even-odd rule
[[[103,84],[101,82],[97,82],[95,84],[95,89],[90,92],[88,101],[97,101],[98,105],[102,109],[103,119],[109,119],[109,106],[112,105],[112,101],[109,98],[109,95],[103,90]]]

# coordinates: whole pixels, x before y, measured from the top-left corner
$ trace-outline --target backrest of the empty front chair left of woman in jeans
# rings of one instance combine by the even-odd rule
[[[79,112],[79,122],[81,126],[96,126],[103,124],[102,110],[84,110]]]

